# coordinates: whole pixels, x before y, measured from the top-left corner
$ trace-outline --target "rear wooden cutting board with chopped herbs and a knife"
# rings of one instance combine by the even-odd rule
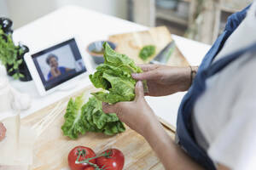
[[[150,28],[148,31],[136,31],[125,34],[118,34],[110,36],[109,41],[117,44],[115,49],[120,54],[126,54],[137,64],[149,63],[154,59],[156,54],[166,47],[169,42],[172,42],[172,35],[166,28],[166,26],[159,26]],[[154,45],[156,47],[156,53],[150,57],[147,61],[140,59],[139,52],[146,45]],[[188,66],[189,62],[184,58],[179,49],[175,48],[167,65],[172,66]]]

